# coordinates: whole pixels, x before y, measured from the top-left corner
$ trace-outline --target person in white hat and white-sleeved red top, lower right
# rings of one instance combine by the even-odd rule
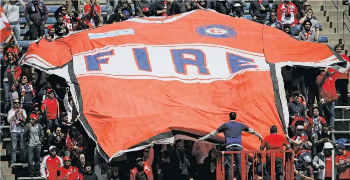
[[[318,168],[318,179],[330,180],[332,178],[332,150],[334,150],[333,145],[325,142],[322,152],[317,153],[312,159],[312,165]]]

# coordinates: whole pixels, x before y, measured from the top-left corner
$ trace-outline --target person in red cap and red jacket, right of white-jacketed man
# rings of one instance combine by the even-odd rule
[[[79,173],[77,167],[71,166],[71,158],[66,156],[63,157],[63,166],[57,170],[58,180],[76,180],[83,179],[83,176]]]

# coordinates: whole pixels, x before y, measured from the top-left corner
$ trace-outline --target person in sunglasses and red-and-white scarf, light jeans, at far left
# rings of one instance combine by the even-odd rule
[[[17,144],[20,144],[21,154],[23,151],[23,126],[26,121],[27,113],[20,107],[20,100],[14,99],[14,108],[9,111],[8,122],[10,123],[10,134],[11,134],[11,160],[10,167],[13,167],[16,162],[16,150]],[[19,143],[18,143],[19,141]]]

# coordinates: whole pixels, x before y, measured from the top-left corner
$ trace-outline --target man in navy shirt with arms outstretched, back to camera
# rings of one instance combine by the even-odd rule
[[[226,151],[242,151],[242,131],[254,134],[259,137],[262,141],[262,137],[255,130],[249,128],[248,126],[235,121],[237,114],[235,112],[230,112],[230,121],[221,125],[217,130],[209,133],[208,135],[199,138],[199,142],[216,136],[217,134],[224,132],[226,141]],[[237,165],[237,180],[241,180],[241,153],[234,154],[235,162]],[[227,164],[227,179],[232,180],[232,155],[225,154],[225,160]]]

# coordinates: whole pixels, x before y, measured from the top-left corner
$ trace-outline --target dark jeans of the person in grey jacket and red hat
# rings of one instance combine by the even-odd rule
[[[39,174],[41,144],[28,146],[28,173],[30,175]],[[34,165],[33,165],[34,157]]]

